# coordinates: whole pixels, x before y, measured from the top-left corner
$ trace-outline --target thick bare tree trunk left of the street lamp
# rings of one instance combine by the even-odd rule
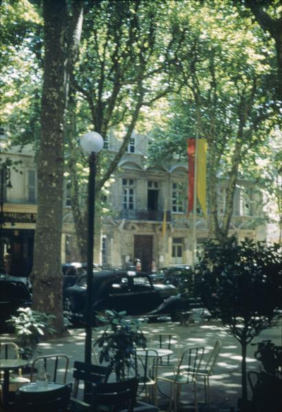
[[[44,1],[45,60],[38,155],[38,211],[34,242],[33,307],[54,314],[58,335],[62,318],[62,185],[64,109],[66,103],[64,41],[67,20],[65,0]]]

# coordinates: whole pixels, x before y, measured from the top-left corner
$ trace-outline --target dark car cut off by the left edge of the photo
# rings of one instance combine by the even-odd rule
[[[0,275],[0,332],[9,330],[6,320],[19,308],[32,305],[32,295],[20,277]]]

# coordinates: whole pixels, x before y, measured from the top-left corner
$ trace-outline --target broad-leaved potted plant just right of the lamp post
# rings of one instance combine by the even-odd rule
[[[106,362],[115,372],[117,381],[126,380],[130,372],[138,375],[136,348],[145,348],[146,338],[137,319],[126,317],[126,312],[105,310],[97,316],[102,326],[96,328],[100,335],[94,343],[99,347],[99,363]]]

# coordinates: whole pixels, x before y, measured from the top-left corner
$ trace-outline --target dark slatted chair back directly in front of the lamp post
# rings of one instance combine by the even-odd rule
[[[75,361],[73,364],[73,396],[78,396],[78,385],[80,380],[91,383],[104,383],[110,375],[109,366],[89,365],[84,362]]]

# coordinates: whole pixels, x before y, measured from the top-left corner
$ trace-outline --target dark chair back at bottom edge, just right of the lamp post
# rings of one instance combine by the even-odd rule
[[[99,409],[99,407],[108,407],[112,412],[120,409],[132,412],[136,402],[137,388],[137,378],[93,385],[92,404],[94,410]]]

